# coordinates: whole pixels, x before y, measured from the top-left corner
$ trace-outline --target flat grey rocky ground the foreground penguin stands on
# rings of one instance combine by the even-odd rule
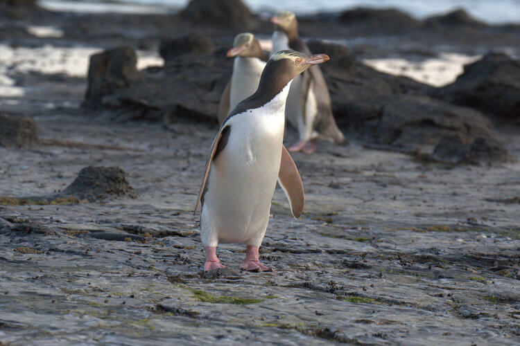
[[[33,115],[54,144],[0,147],[0,196],[52,194],[87,165],[121,167],[137,193],[0,206],[15,225],[0,235],[1,343],[519,342],[519,163],[448,168],[320,143],[294,155],[304,215],[275,192],[261,254],[275,271],[240,272],[243,246],[224,245],[229,271],[207,275],[192,210],[216,128],[79,111],[87,51],[1,49],[24,98],[0,106]],[[520,157],[514,130],[498,132]]]

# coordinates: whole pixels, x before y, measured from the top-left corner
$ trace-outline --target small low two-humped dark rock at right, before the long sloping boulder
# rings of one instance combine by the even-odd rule
[[[460,136],[443,137],[433,150],[431,158],[442,163],[499,163],[510,160],[508,151],[493,138],[476,138],[465,144]]]

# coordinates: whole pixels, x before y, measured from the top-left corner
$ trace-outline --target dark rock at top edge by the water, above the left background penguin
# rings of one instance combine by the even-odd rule
[[[241,0],[191,0],[180,12],[182,19],[200,26],[235,29],[252,28],[256,24],[249,8]]]

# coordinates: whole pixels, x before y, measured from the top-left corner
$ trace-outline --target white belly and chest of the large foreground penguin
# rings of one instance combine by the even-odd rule
[[[201,215],[205,246],[260,246],[269,221],[284,138],[284,109],[252,109],[229,118],[227,144],[211,167]]]

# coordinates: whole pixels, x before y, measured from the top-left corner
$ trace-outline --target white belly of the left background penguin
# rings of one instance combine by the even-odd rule
[[[237,104],[257,91],[264,67],[266,62],[257,57],[235,57],[229,92],[229,110],[234,109]]]

